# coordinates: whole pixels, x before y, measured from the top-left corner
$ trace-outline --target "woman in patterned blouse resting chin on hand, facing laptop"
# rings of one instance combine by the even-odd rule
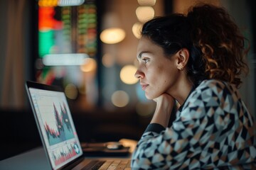
[[[204,4],[144,24],[135,77],[156,110],[133,169],[256,169],[255,121],[238,93],[245,55],[223,8]]]

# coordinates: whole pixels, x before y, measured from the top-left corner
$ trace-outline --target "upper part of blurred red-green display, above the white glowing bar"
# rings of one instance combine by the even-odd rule
[[[72,58],[79,53],[94,57],[97,50],[94,1],[86,1],[78,6],[48,4],[38,3],[39,57],[73,54],[70,55]]]

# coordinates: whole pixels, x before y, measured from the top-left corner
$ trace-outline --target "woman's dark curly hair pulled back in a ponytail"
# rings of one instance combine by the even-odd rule
[[[144,23],[142,36],[161,46],[166,56],[188,49],[186,72],[195,86],[204,79],[218,79],[239,87],[240,75],[248,72],[249,47],[225,8],[199,4],[187,15],[153,18]]]

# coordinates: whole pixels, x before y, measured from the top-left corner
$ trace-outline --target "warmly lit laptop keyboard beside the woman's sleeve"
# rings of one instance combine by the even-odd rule
[[[92,170],[100,169],[100,170],[114,170],[114,169],[131,169],[131,161],[130,160],[107,160],[105,162],[99,162],[92,167]]]

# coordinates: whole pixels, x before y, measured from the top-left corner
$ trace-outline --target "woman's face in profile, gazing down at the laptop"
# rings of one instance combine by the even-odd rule
[[[176,55],[167,56],[164,50],[154,44],[149,38],[142,37],[137,48],[139,67],[135,73],[148,99],[154,99],[161,94],[175,89],[178,79]]]

